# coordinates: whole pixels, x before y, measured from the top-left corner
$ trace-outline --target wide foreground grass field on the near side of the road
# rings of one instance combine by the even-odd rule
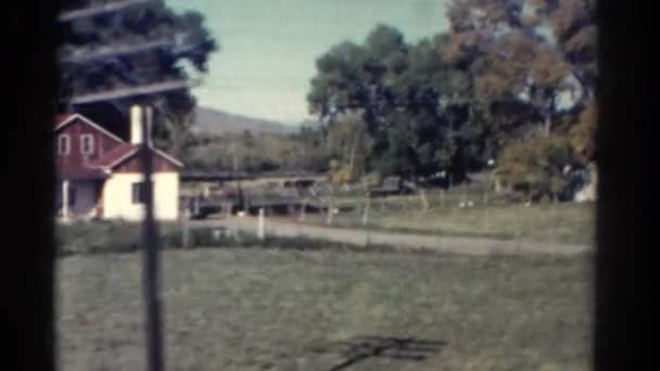
[[[168,251],[169,370],[587,370],[587,258]],[[140,255],[59,260],[62,370],[143,370]]]

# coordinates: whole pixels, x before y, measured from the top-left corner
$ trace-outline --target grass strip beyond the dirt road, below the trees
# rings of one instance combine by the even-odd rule
[[[486,194],[482,189],[464,191],[457,188],[441,194],[427,195],[429,209],[421,212],[419,195],[375,199],[370,203],[367,226],[363,225],[364,197],[339,196],[335,204],[353,210],[333,217],[338,227],[416,232],[444,235],[521,239],[534,242],[593,243],[595,205],[593,203],[542,203],[526,206]],[[472,207],[460,207],[461,202]],[[322,215],[307,220],[325,223]]]

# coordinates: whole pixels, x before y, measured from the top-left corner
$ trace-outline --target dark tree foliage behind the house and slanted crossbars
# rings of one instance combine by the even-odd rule
[[[76,0],[68,1],[66,9],[98,4],[96,0]],[[87,57],[104,50],[165,41],[169,43],[129,54]],[[206,72],[208,57],[216,50],[217,43],[201,13],[175,13],[163,1],[130,11],[74,20],[62,25],[61,99],[174,79],[189,80],[193,78],[192,74]],[[155,139],[176,156],[183,155],[194,97],[189,90],[180,90],[155,94],[149,101],[156,107]],[[88,104],[85,110],[91,113],[91,118],[102,118],[104,104]],[[128,116],[129,102],[115,101],[113,104],[124,117]]]

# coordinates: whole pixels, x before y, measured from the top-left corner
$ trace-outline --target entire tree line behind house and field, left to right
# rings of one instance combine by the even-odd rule
[[[325,123],[320,127],[285,136],[195,138],[195,100],[180,90],[150,97],[157,108],[156,143],[191,167],[330,169],[341,174],[339,182],[369,172],[414,179],[444,172],[460,181],[494,164],[505,187],[557,193],[567,184],[567,169],[594,159],[594,7],[593,0],[452,0],[447,31],[409,42],[396,28],[379,25],[364,42],[344,41],[320,55],[307,95],[309,111]],[[68,22],[61,37],[63,101],[190,79],[206,71],[218,49],[202,14],[175,13],[162,1],[120,16]],[[107,47],[158,40],[167,42],[89,57]],[[76,62],[76,55],[87,60]],[[106,123],[111,111],[127,112],[128,103],[75,108]]]

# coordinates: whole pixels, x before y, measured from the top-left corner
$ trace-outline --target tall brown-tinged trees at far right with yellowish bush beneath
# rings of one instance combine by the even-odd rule
[[[595,119],[585,118],[595,110],[597,80],[593,7],[585,0],[449,4],[452,33],[441,57],[469,72],[471,110],[497,138],[497,171],[509,184],[556,194],[563,167],[584,164],[581,153],[593,148]],[[566,92],[575,98],[568,111],[558,104]]]

